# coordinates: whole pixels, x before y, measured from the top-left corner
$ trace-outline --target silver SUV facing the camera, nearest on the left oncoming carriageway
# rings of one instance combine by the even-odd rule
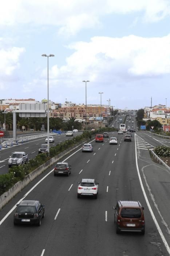
[[[16,165],[22,165],[23,163],[28,162],[28,154],[21,151],[21,152],[14,152],[12,155],[9,157],[8,160],[8,166],[9,168],[11,166],[16,166]]]

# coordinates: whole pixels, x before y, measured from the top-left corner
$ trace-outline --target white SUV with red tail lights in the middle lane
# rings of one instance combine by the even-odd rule
[[[80,196],[93,196],[95,199],[97,199],[98,185],[99,183],[97,183],[95,179],[82,179],[78,185],[77,197],[80,198]]]

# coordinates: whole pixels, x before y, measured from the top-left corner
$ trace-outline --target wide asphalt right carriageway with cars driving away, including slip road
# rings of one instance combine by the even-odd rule
[[[92,153],[78,148],[61,160],[72,166],[69,177],[54,177],[52,166],[0,211],[0,255],[170,255],[170,173],[151,161],[148,150],[161,142],[144,132],[133,133],[132,142],[124,142],[117,132],[111,136],[117,137],[118,145],[110,145],[105,138],[104,143],[91,142]],[[82,178],[99,182],[98,199],[77,198]],[[45,205],[40,227],[13,225],[16,204],[23,198]],[[118,200],[141,202],[145,208],[144,236],[116,234],[112,207]]]

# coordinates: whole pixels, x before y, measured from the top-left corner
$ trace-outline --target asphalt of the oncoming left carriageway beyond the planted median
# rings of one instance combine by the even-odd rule
[[[81,135],[82,132],[75,132],[74,136]],[[73,137],[66,137],[66,134],[54,135],[54,143],[50,143],[50,147],[56,146],[60,142],[63,142]],[[46,138],[38,138],[29,140],[28,142],[24,141],[23,144],[19,143],[18,145],[14,144],[13,146],[8,146],[7,148],[3,147],[0,150],[0,174],[8,173],[8,159],[9,156],[15,151],[24,151],[28,154],[28,159],[35,158],[38,154],[38,149],[41,144],[46,144]]]

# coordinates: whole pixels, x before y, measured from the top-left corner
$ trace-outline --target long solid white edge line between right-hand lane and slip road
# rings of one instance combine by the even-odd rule
[[[136,136],[136,135],[135,135],[135,136]],[[169,255],[170,255],[170,248],[169,248],[169,245],[168,245],[168,243],[167,243],[167,241],[166,241],[166,239],[165,239],[165,237],[164,237],[164,235],[163,235],[163,233],[162,233],[161,228],[159,227],[159,224],[158,224],[158,222],[157,222],[157,219],[155,218],[155,215],[154,215],[153,210],[152,210],[152,208],[151,208],[151,206],[150,206],[149,200],[147,199],[147,195],[146,195],[146,193],[145,193],[145,189],[144,189],[144,187],[143,187],[143,183],[142,183],[142,179],[141,179],[141,175],[140,175],[140,173],[139,173],[139,167],[138,167],[136,140],[135,140],[135,158],[136,158],[136,166],[137,166],[137,173],[138,173],[138,177],[139,177],[139,182],[140,182],[140,184],[141,184],[141,189],[142,189],[143,195],[144,195],[144,197],[145,197],[145,201],[146,201],[146,203],[147,203],[147,207],[149,208],[151,217],[153,218],[153,221],[154,221],[155,226],[157,227],[157,230],[158,230],[158,232],[159,232],[159,234],[160,234],[160,236],[161,236],[161,238],[162,238],[162,241],[163,241],[163,243],[164,243],[164,245],[165,245],[165,248],[167,249],[167,252],[168,252]]]

